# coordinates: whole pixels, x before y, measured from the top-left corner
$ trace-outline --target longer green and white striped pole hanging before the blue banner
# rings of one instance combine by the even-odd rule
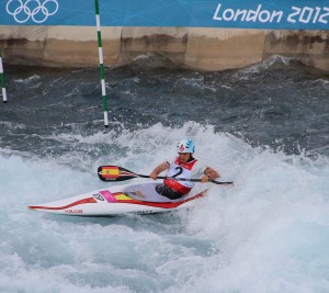
[[[104,111],[104,126],[109,126],[107,117],[107,102],[105,91],[105,79],[104,79],[104,60],[103,60],[103,47],[102,47],[102,32],[101,32],[101,18],[100,18],[100,5],[99,0],[94,0],[97,29],[98,29],[98,42],[99,42],[99,56],[100,56],[100,69],[101,69],[101,86],[102,86],[102,104]]]

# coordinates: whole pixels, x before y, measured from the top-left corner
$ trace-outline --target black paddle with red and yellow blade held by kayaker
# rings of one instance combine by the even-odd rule
[[[98,174],[102,181],[125,181],[134,178],[150,178],[147,174],[137,174],[118,166],[100,166],[98,168]],[[201,179],[172,178],[162,176],[158,176],[157,179],[201,182]],[[219,182],[212,179],[209,179],[208,181],[215,184],[232,184],[232,182]]]

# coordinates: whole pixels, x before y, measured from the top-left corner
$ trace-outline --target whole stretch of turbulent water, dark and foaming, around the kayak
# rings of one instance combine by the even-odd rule
[[[152,55],[99,69],[4,65],[0,292],[329,292],[329,77],[272,57],[181,70]],[[182,138],[235,185],[193,210],[122,217],[32,212],[139,173]],[[141,182],[135,179],[134,182]]]

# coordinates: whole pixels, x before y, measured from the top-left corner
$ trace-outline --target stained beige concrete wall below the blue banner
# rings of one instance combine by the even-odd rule
[[[195,27],[103,27],[105,66],[157,53],[182,68],[246,67],[271,55],[297,57],[329,71],[329,31],[268,31]],[[99,64],[95,27],[0,26],[8,64],[86,67]]]

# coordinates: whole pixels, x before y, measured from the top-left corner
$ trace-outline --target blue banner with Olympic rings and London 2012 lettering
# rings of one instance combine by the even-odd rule
[[[99,0],[103,26],[329,30],[329,0]],[[95,25],[94,0],[0,0],[0,25]]]

